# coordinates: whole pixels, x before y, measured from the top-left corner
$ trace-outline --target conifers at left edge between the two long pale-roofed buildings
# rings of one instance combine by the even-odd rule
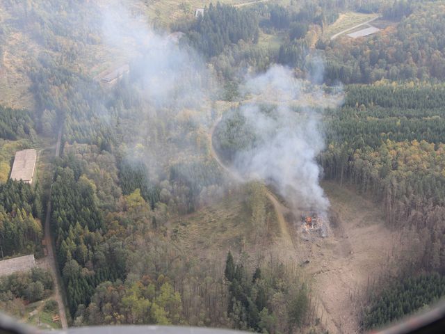
[[[38,186],[8,180],[0,184],[0,245],[3,255],[33,253],[40,249],[42,205]]]

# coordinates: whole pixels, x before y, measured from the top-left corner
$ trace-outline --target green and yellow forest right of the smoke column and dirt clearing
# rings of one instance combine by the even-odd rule
[[[442,84],[349,86],[345,105],[325,113],[325,177],[382,205],[407,246],[401,273],[370,297],[365,329],[387,324],[444,295],[444,114]],[[412,240],[419,243],[412,244]],[[420,274],[420,276],[419,276]]]

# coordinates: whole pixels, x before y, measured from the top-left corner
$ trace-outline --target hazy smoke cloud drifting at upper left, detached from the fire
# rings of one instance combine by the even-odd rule
[[[209,95],[210,76],[192,49],[179,47],[181,35],[156,33],[149,22],[131,15],[119,1],[103,8],[102,35],[143,78],[140,95],[157,107],[200,106]]]

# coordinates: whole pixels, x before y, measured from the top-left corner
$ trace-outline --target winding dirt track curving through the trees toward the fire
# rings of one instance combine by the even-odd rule
[[[213,147],[213,132],[215,132],[216,127],[218,126],[222,116],[220,116],[212,125],[209,131],[209,143],[210,143],[210,154],[218,163],[218,165],[225,170],[225,172],[230,175],[236,182],[244,182],[244,178],[233,168],[225,165],[223,161],[220,159],[218,154]],[[289,225],[284,218],[284,214],[289,211],[279,200],[275,197],[272,191],[266,187],[266,196],[270,200],[273,205],[273,209],[275,211],[275,215],[277,216],[277,222],[280,227],[280,234],[282,239],[285,242],[286,248],[296,249],[296,244],[293,242],[293,238],[291,236],[291,232],[289,231]]]

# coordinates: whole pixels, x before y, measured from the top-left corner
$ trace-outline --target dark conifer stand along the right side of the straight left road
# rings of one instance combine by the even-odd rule
[[[72,315],[77,305],[89,303],[97,284],[123,275],[120,263],[102,249],[104,221],[92,186],[86,177],[76,179],[70,167],[58,167],[51,191],[51,225]],[[81,271],[87,262],[94,271]]]

